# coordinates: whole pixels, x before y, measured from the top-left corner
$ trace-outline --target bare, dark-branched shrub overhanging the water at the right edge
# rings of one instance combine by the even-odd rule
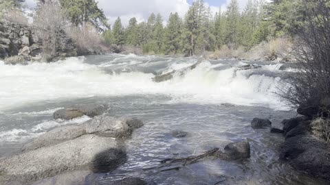
[[[299,71],[287,79],[288,85],[280,88],[279,95],[294,108],[311,107],[318,110],[319,116],[329,116],[330,2],[306,0],[301,5],[305,21],[295,29]]]

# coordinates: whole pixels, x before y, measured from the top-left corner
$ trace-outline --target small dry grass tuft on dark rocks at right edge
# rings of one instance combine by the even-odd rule
[[[311,132],[327,143],[330,141],[330,119],[318,118],[311,122]]]

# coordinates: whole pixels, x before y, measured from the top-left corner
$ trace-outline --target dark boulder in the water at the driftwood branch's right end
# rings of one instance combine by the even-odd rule
[[[243,141],[239,143],[230,143],[225,146],[225,151],[217,151],[216,156],[221,160],[241,160],[250,158],[250,143]]]

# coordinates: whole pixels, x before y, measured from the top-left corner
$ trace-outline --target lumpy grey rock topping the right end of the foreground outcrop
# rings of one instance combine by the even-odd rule
[[[131,136],[133,129],[124,121],[111,116],[96,116],[84,123],[87,134],[100,134],[102,136],[124,138]]]

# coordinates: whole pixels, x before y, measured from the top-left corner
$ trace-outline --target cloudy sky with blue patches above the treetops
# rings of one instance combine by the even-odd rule
[[[35,0],[25,0],[28,7],[34,8]],[[132,17],[137,18],[137,21],[146,21],[151,13],[159,13],[167,21],[170,12],[178,12],[181,17],[186,14],[189,5],[193,0],[96,0],[99,8],[104,11],[104,14],[109,19],[109,23],[113,25],[118,16],[122,19],[122,24],[128,24]],[[243,10],[248,0],[239,0],[240,8]],[[210,6],[211,12],[215,14],[230,3],[230,0],[204,0],[207,6]]]

